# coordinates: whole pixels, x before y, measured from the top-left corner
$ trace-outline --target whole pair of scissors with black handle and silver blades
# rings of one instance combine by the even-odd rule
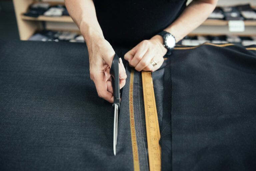
[[[112,88],[113,88],[113,109],[114,109],[114,136],[113,136],[113,151],[116,155],[117,144],[117,131],[118,131],[118,114],[120,111],[120,87],[119,87],[119,57],[115,54],[112,65],[110,68],[110,75],[112,76]]]

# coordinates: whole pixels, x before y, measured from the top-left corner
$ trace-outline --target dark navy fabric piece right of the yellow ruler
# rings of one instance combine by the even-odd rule
[[[173,51],[164,76],[163,120],[170,122],[163,122],[162,170],[256,169],[255,47]]]

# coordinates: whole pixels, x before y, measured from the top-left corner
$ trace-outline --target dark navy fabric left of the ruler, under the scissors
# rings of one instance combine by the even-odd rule
[[[115,51],[123,57],[128,49]],[[122,92],[114,156],[112,104],[98,97],[90,80],[84,43],[0,41],[0,54],[1,171],[133,170],[130,67]],[[156,90],[156,97],[163,93],[164,72],[159,71],[153,74],[160,90]],[[148,170],[143,104],[141,75],[135,71],[140,169]]]

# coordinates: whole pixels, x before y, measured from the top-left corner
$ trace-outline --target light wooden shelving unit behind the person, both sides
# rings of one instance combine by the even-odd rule
[[[44,0],[44,1],[47,1],[47,0]],[[28,40],[29,37],[35,33],[35,31],[43,29],[43,25],[42,25],[43,22],[46,29],[59,30],[59,31],[76,31],[76,32],[79,31],[70,16],[61,16],[61,17],[39,16],[38,18],[24,16],[23,13],[25,13],[28,10],[29,6],[35,2],[39,2],[39,1],[38,0],[13,0],[21,40]],[[50,4],[64,5],[64,2],[56,1],[56,2],[50,2]],[[193,34],[256,35],[255,20],[252,20],[252,21],[246,20],[244,21],[244,24],[245,24],[245,32],[229,32],[228,21],[208,19],[204,23],[202,23],[202,25],[199,26],[196,30],[194,30],[191,33],[191,35]]]

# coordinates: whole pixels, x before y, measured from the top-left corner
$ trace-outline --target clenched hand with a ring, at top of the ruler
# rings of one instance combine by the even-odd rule
[[[163,46],[163,38],[160,35],[152,37],[150,40],[143,40],[124,55],[124,59],[129,65],[135,67],[137,71],[155,71],[164,62],[163,56],[167,49]],[[153,66],[151,63],[155,62]]]

